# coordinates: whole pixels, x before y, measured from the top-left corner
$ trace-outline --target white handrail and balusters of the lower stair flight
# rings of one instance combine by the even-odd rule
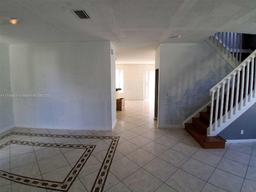
[[[208,132],[209,135],[211,135],[211,131],[216,130],[216,126],[220,127],[222,122],[225,123],[226,118],[231,118],[232,115],[236,114],[236,110],[242,110],[242,106],[246,105],[247,101],[250,102],[252,97],[255,98],[255,96],[256,96],[255,90],[256,89],[254,88],[254,90],[252,90],[253,82],[255,84],[255,79],[256,79],[255,78],[255,72],[254,72],[254,60],[255,60],[255,58],[256,58],[256,50],[254,50],[252,52],[252,54],[250,54],[243,62],[241,62],[241,64],[239,66],[237,66],[232,72],[230,72],[230,74],[228,74],[226,77],[224,77],[220,82],[218,82],[214,87],[212,87],[210,89],[210,96],[212,96],[212,98],[211,98],[211,110],[210,110],[210,129],[209,129],[209,132]],[[251,63],[251,65],[250,65],[250,63]],[[245,79],[245,67],[246,66],[247,66],[247,75],[246,75],[246,79]],[[251,72],[251,74],[249,74],[249,72]],[[240,73],[242,73],[242,82],[241,82],[241,92],[239,93]],[[235,80],[236,75],[237,75],[237,80]],[[249,76],[250,76],[250,79],[251,79],[250,85],[249,85]],[[232,81],[232,83],[231,83],[231,87],[230,87],[230,82],[231,81]],[[244,83],[246,83],[245,87],[244,87]],[[236,86],[236,94],[234,93],[235,86]],[[237,86],[238,86],[238,88],[237,88]],[[231,101],[229,100],[230,88],[231,88],[231,91],[232,91],[231,92],[231,98],[230,98]],[[240,102],[240,104],[238,106],[238,97],[240,95],[240,98],[241,98],[241,101],[242,101],[244,91],[246,92],[245,102],[243,104],[242,104],[242,102]],[[250,94],[248,94],[248,91],[250,92]],[[226,92],[227,95],[226,95],[226,104],[225,104],[225,115],[224,115],[224,117],[222,117],[223,108],[224,108],[224,92]],[[216,96],[214,96],[215,93],[216,93]],[[236,95],[236,96],[234,97],[234,95]],[[220,96],[221,96],[221,99],[220,99]],[[216,110],[215,110],[215,114],[213,114],[213,108],[214,108],[213,106],[214,106],[214,99],[215,98],[216,98]],[[221,102],[220,103],[220,114],[218,114],[219,99],[220,99],[220,102]],[[233,108],[231,107],[230,110],[229,110],[229,115],[227,115],[228,103],[229,102],[230,102],[231,106],[233,106],[233,103],[235,102],[235,106],[234,106],[233,114],[232,114],[232,109]],[[217,123],[218,115],[220,115],[220,120]],[[215,120],[214,125],[212,123],[213,118]]]

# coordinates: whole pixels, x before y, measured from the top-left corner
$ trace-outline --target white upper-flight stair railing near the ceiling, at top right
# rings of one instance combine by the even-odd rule
[[[229,33],[218,32],[209,37],[212,39],[212,43],[220,47],[220,50],[224,50],[224,54],[228,53],[228,58],[231,58],[235,65],[242,62],[242,34],[241,33]]]

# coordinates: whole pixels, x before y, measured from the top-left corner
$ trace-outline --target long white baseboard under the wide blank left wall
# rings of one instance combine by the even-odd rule
[[[112,131],[112,128],[94,128],[94,127],[68,127],[68,126],[30,126],[30,125],[16,125],[15,127],[24,128],[38,128],[38,129],[69,129],[69,130],[101,130],[101,131]]]

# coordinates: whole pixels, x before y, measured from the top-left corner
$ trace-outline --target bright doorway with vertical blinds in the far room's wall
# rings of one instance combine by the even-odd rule
[[[155,70],[144,70],[144,100],[154,101]]]

